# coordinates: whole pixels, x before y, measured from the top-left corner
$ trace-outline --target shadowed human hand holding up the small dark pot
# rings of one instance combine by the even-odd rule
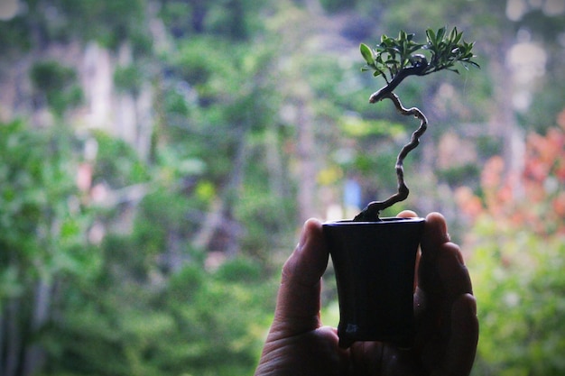
[[[321,276],[328,260],[321,223],[310,219],[282,268],[273,325],[255,376],[468,375],[477,349],[477,306],[443,216],[426,217],[414,291],[416,335],[409,350],[381,342],[338,347],[337,329],[323,326],[320,318]]]

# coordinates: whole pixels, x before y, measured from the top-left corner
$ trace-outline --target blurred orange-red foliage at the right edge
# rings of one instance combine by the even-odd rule
[[[462,212],[472,220],[487,215],[537,234],[565,234],[565,110],[558,124],[545,135],[528,135],[519,173],[505,172],[499,156],[488,160],[481,175],[481,197],[469,188],[458,189]]]

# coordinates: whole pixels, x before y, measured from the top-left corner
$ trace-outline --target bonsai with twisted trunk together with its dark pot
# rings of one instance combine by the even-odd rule
[[[360,45],[366,61],[363,71],[372,70],[385,85],[369,97],[369,103],[390,99],[401,115],[420,120],[396,159],[397,192],[383,201],[369,203],[355,218],[323,225],[324,235],[336,272],[339,300],[338,336],[341,347],[355,341],[386,341],[410,347],[414,333],[412,313],[416,253],[423,230],[423,218],[381,218],[382,210],[403,201],[409,189],[404,181],[403,161],[418,146],[428,127],[426,116],[416,107],[405,108],[394,94],[405,78],[426,76],[447,69],[458,73],[478,68],[473,59],[474,43],[462,40],[462,32],[446,27],[426,31],[426,42],[414,34],[386,35],[376,47]]]

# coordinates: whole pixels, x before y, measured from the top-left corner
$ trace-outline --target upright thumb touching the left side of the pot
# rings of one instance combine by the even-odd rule
[[[306,221],[300,243],[282,267],[270,335],[289,337],[321,326],[321,276],[328,266],[328,258],[320,221]]]

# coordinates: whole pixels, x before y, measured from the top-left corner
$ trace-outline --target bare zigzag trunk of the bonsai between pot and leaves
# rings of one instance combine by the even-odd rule
[[[415,149],[420,144],[420,137],[428,129],[428,119],[417,107],[404,108],[398,96],[396,96],[392,91],[389,93],[384,93],[382,98],[389,98],[393,101],[394,106],[402,115],[408,116],[413,115],[414,117],[420,119],[420,126],[417,130],[412,133],[412,139],[410,142],[403,146],[403,149],[398,153],[396,157],[396,179],[398,181],[397,192],[385,199],[384,201],[373,201],[369,203],[361,213],[359,213],[353,220],[354,221],[380,221],[379,213],[389,206],[393,206],[397,202],[403,201],[408,197],[410,190],[406,187],[404,182],[404,158],[413,149]]]

